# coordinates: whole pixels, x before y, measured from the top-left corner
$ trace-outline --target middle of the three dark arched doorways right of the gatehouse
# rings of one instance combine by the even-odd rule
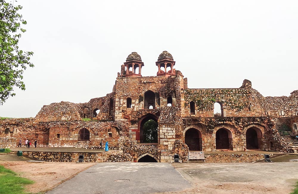
[[[232,150],[232,133],[226,128],[220,128],[216,131],[216,149],[227,149]]]

